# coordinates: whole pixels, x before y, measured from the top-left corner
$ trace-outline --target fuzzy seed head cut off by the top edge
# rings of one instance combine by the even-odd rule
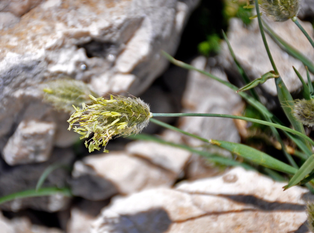
[[[263,13],[274,21],[286,21],[297,16],[301,0],[258,0]]]

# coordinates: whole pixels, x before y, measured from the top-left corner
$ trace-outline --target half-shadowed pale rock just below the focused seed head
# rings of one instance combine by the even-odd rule
[[[71,190],[88,200],[105,200],[114,194],[171,186],[176,174],[125,152],[87,156],[74,164]]]

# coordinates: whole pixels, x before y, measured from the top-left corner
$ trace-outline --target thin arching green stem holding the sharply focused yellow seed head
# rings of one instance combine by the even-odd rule
[[[293,129],[290,129],[288,127],[285,127],[283,125],[275,124],[275,123],[264,121],[264,120],[259,120],[259,119],[249,118],[249,117],[243,117],[243,116],[228,115],[228,114],[212,114],[212,113],[153,113],[153,117],[181,117],[181,116],[202,116],[202,117],[232,118],[232,119],[246,120],[246,121],[250,121],[250,122],[254,122],[254,123],[258,123],[258,124],[264,124],[264,125],[268,125],[268,126],[273,126],[275,128],[278,128],[278,129],[281,129],[281,130],[285,130],[287,132],[290,132],[290,133],[293,133],[295,135],[298,135],[301,138],[307,140],[309,143],[311,143],[312,146],[314,146],[314,141],[311,140],[308,136],[306,136],[306,135],[304,135],[304,134],[302,134],[302,133],[300,133],[300,132],[298,132],[296,130],[293,130]],[[156,119],[153,119],[153,118],[151,118],[150,120],[153,121],[154,123],[156,123],[155,121],[157,121]],[[175,128],[175,130],[178,131],[176,127],[173,127],[173,128]],[[184,133],[186,135],[189,135],[189,136],[194,136],[194,137],[196,136],[196,135],[187,133],[184,130],[181,130],[180,132]],[[208,142],[207,139],[204,139],[204,138],[201,138],[201,137],[199,137],[199,139],[201,139],[202,141]]]

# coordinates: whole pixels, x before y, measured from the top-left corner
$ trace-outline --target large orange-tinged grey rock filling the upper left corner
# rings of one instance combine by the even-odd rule
[[[0,31],[0,147],[25,112],[27,120],[50,121],[42,82],[67,75],[90,83],[99,95],[143,92],[167,65],[160,50],[176,51],[198,2],[1,1],[1,13],[23,16]],[[38,112],[30,111],[34,103]],[[64,120],[53,116],[57,126]],[[56,131],[67,134],[67,127]]]

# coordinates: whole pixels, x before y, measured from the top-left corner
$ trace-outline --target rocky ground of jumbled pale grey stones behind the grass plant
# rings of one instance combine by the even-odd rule
[[[285,183],[256,171],[221,169],[191,152],[148,141],[112,140],[109,154],[89,154],[68,131],[68,114],[42,102],[42,84],[71,77],[98,95],[130,93],[151,111],[240,114],[245,103],[228,87],[195,71],[168,66],[163,49],[175,55],[191,1],[7,1],[0,2],[0,197],[35,188],[45,169],[44,187],[70,187],[61,194],[15,199],[2,204],[3,232],[203,233],[308,232],[306,188],[283,192]],[[313,17],[303,1],[300,19]],[[291,21],[268,24],[310,60],[305,37]],[[291,24],[291,25],[290,25]],[[313,35],[310,23],[302,22]],[[249,77],[271,70],[256,20],[245,26],[231,19],[227,31]],[[291,92],[301,83],[292,65],[303,65],[268,38],[274,60]],[[187,61],[224,80],[238,80],[224,42],[219,55]],[[236,81],[238,82],[238,81]],[[276,108],[273,81],[263,84],[263,103]],[[204,138],[241,142],[231,119],[162,119]],[[197,140],[150,124],[145,133],[174,143],[206,148]],[[75,146],[73,146],[75,144]],[[73,149],[74,148],[74,149]],[[65,169],[68,167],[70,169]]]

